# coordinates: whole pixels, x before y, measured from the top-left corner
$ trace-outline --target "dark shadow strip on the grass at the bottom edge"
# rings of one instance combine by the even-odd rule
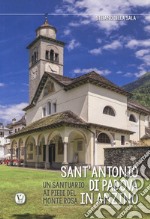
[[[37,215],[37,214],[13,214],[11,218],[14,219],[54,219],[55,215]]]

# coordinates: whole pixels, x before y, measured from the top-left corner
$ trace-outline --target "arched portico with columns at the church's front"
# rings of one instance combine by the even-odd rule
[[[87,135],[83,129],[60,127],[36,132],[12,142],[19,148],[24,166],[59,169],[62,165],[87,163]]]

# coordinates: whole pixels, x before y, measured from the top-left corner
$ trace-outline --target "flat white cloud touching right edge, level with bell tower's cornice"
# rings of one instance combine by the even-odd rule
[[[126,47],[130,49],[134,49],[136,47],[148,47],[148,46],[150,46],[150,39],[146,39],[146,40],[131,39],[126,44]]]

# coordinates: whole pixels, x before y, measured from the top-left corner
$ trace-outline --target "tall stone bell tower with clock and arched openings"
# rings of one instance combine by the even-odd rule
[[[32,101],[44,72],[63,75],[64,43],[56,39],[57,30],[48,23],[36,29],[29,49],[29,96]]]

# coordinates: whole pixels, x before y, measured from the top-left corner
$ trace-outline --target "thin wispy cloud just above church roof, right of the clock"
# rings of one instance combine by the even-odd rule
[[[77,68],[77,69],[74,70],[74,73],[76,73],[76,74],[86,74],[86,73],[89,73],[89,72],[92,72],[92,71],[95,71],[96,73],[98,73],[100,75],[108,75],[108,74],[111,73],[111,71],[109,71],[108,69],[99,70],[97,68],[84,68],[84,69]]]

